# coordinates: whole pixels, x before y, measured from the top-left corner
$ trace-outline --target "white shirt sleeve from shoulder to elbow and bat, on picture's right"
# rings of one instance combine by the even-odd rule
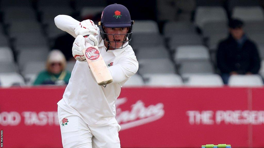
[[[113,77],[113,83],[121,83],[138,71],[138,61],[135,56],[121,57],[115,65],[108,69]]]

